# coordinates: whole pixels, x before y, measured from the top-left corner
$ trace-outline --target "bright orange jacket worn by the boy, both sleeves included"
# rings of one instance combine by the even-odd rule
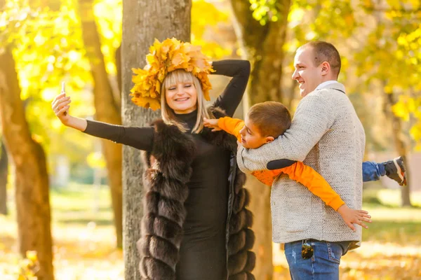
[[[225,117],[218,120],[218,125],[222,130],[234,135],[238,141],[241,141],[240,130],[244,127],[243,120]],[[280,174],[287,174],[291,180],[302,183],[310,192],[320,197],[326,205],[332,207],[335,211],[342,204],[345,204],[340,195],[330,187],[329,183],[316,170],[304,165],[302,162],[295,162],[293,165],[282,169],[260,170],[252,173],[253,176],[267,186],[272,186],[272,183]]]

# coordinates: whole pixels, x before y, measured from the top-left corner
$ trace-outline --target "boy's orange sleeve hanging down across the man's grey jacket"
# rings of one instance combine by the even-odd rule
[[[338,211],[339,207],[345,204],[340,195],[312,167],[304,165],[302,162],[296,162],[290,167],[283,168],[282,171],[288,174],[290,179],[306,186],[310,192],[320,197],[326,205],[332,207],[335,211]]]

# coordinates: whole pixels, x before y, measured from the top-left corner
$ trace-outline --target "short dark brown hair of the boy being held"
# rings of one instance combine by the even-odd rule
[[[263,102],[251,106],[248,119],[258,127],[262,137],[279,137],[291,126],[291,115],[286,106],[279,102]]]

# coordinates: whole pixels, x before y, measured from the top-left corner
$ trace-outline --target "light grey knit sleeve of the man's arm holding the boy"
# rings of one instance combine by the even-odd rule
[[[335,121],[333,98],[336,92],[318,90],[304,97],[295,111],[291,127],[283,135],[257,149],[239,147],[237,164],[250,173],[267,169],[273,160],[305,160],[309,151]]]

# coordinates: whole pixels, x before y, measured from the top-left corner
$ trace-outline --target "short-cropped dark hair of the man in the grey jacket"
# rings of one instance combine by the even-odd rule
[[[325,41],[311,41],[302,45],[299,49],[312,47],[314,53],[314,65],[319,66],[322,62],[328,62],[330,69],[338,78],[340,73],[340,55],[334,45]]]

